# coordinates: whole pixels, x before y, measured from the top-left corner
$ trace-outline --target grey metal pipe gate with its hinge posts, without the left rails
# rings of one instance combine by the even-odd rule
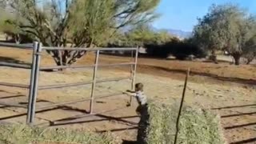
[[[85,51],[96,51],[95,54],[95,60],[94,60],[94,65],[91,66],[47,66],[47,67],[42,67],[40,68],[40,62],[41,62],[41,54],[42,50],[85,50]],[[134,62],[128,62],[128,63],[114,63],[114,64],[105,64],[105,65],[99,65],[98,64],[98,58],[100,55],[100,51],[113,51],[113,50],[124,50],[124,51],[131,51],[131,58],[133,59],[133,54],[135,50],[135,58]],[[34,52],[33,52],[33,61],[32,61],[32,68],[31,68],[31,73],[30,73],[30,94],[29,94],[29,105],[28,105],[28,110],[27,110],[27,117],[26,117],[26,123],[27,124],[33,124],[34,122],[34,116],[35,116],[35,110],[36,110],[36,99],[38,96],[38,90],[46,90],[46,89],[55,89],[55,88],[62,88],[62,87],[70,87],[70,86],[81,86],[81,85],[88,85],[91,84],[91,93],[90,93],[90,98],[82,99],[82,100],[77,100],[76,102],[63,102],[63,103],[58,103],[54,104],[54,106],[62,106],[70,103],[77,103],[77,102],[85,102],[90,100],[90,115],[94,115],[94,89],[95,86],[98,82],[113,82],[113,81],[120,81],[123,79],[131,79],[131,90],[134,90],[134,84],[135,84],[135,74],[137,70],[137,63],[138,63],[138,47],[137,48],[70,48],[70,47],[45,47],[42,46],[41,43],[34,42]],[[129,78],[110,78],[110,79],[105,79],[101,81],[97,81],[97,71],[99,66],[131,66],[130,70],[130,77]],[[93,73],[93,81],[92,82],[77,82],[73,84],[62,84],[62,86],[38,86],[38,76],[40,73],[40,70],[54,70],[54,69],[64,69],[64,68],[73,68],[73,69],[78,69],[78,68],[86,68],[86,67],[93,67],[94,68],[94,73]],[[99,98],[106,98],[106,97],[111,97],[115,95],[120,95],[120,94],[108,94]],[[132,103],[132,96],[130,96],[130,106]],[[43,106],[41,108],[45,108],[47,106]],[[118,109],[115,109],[118,110]],[[110,110],[106,110],[110,111]],[[100,114],[105,113],[99,112]],[[98,113],[98,114],[99,114]]]

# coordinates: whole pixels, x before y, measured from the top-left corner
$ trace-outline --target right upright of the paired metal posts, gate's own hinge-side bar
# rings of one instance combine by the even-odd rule
[[[40,67],[40,61],[41,61],[41,52],[42,52],[42,43],[38,44],[38,48],[35,53],[36,60],[35,60],[35,68],[34,68],[34,87],[33,87],[33,92],[32,92],[31,101],[30,101],[30,118],[28,121],[29,124],[32,124],[34,122],[35,104],[38,96],[38,76],[39,76],[39,67]]]

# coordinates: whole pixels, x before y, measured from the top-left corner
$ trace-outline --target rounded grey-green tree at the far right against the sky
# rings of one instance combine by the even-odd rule
[[[226,4],[211,6],[209,13],[198,20],[194,27],[194,38],[204,49],[226,50],[239,65],[240,58],[246,50],[246,42],[256,33],[255,18],[240,7]]]

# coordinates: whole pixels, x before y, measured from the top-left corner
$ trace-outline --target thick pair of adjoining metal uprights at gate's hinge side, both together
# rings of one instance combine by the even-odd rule
[[[39,75],[39,66],[41,60],[42,44],[34,42],[34,53],[33,53],[33,62],[30,75],[30,95],[29,95],[29,104],[26,123],[32,124],[34,122],[35,114],[35,103],[38,94],[38,75]]]

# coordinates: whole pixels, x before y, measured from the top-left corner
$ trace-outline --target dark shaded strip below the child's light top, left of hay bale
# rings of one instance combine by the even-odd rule
[[[140,115],[141,119],[138,122],[138,135],[137,135],[137,142],[139,144],[146,144],[147,138],[147,127],[149,124],[150,115],[148,113],[147,105],[138,106],[136,110]]]

